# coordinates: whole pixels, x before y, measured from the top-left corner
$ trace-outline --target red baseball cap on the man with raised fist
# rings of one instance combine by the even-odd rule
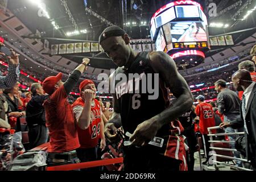
[[[56,76],[49,76],[43,81],[43,89],[46,93],[51,95],[54,92],[54,85],[61,80],[63,74],[58,73]]]

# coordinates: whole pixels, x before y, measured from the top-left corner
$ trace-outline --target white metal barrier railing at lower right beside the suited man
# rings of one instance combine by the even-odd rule
[[[218,170],[218,167],[217,167],[216,164],[223,164],[225,166],[230,166],[230,167],[233,167],[233,168],[236,168],[236,169],[240,169],[240,170],[243,170],[243,171],[253,171],[253,170],[245,168],[245,167],[239,167],[239,166],[236,166],[236,165],[231,165],[231,164],[228,164],[228,163],[217,161],[217,157],[218,157],[218,158],[224,158],[224,159],[240,160],[241,162],[250,163],[250,161],[247,160],[247,159],[236,158],[234,156],[226,156],[226,155],[216,154],[215,150],[218,150],[218,151],[231,151],[231,152],[236,152],[237,150],[234,149],[234,148],[214,147],[214,143],[230,143],[230,144],[231,143],[235,143],[235,141],[213,140],[214,136],[216,136],[216,137],[218,137],[218,136],[229,136],[229,135],[237,135],[238,136],[238,135],[244,135],[245,134],[244,132],[212,134],[212,130],[216,130],[216,129],[220,129],[220,126],[208,127],[208,132],[209,132],[208,136],[210,138],[210,140],[208,142],[210,142],[210,149],[212,149],[212,151],[213,151],[212,156],[216,157],[216,160],[214,160],[214,159],[212,160],[215,169]]]

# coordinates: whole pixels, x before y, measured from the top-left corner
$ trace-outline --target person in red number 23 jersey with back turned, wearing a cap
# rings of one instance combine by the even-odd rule
[[[199,105],[196,106],[196,115],[200,118],[199,121],[199,130],[202,134],[204,140],[204,153],[207,157],[207,160],[203,162],[203,164],[207,164],[209,160],[209,151],[210,151],[210,143],[208,142],[210,138],[208,137],[208,127],[215,126],[214,113],[212,109],[212,105],[204,102],[205,97],[200,95],[196,97],[196,100],[199,102]],[[214,133],[214,131],[213,131]]]

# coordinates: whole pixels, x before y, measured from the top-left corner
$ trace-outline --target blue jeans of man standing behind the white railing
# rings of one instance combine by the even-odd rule
[[[239,117],[240,117],[240,114],[226,114],[224,115],[224,122],[232,122]],[[235,132],[242,132],[242,131],[243,131],[243,128],[240,128],[237,130],[232,129],[232,127],[225,128],[225,133],[235,133]],[[236,141],[239,135],[228,135],[228,137],[230,141]],[[231,143],[230,145],[232,149],[236,149],[235,143]],[[233,154],[236,158],[240,158],[240,154],[241,154],[240,152],[236,151],[236,152],[233,152]],[[241,166],[241,160],[235,160],[235,161],[237,166]]]

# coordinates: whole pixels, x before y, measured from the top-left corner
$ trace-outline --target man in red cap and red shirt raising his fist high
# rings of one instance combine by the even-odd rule
[[[65,82],[61,81],[62,73],[47,77],[43,82],[43,89],[49,94],[43,104],[46,110],[46,126],[49,129],[50,137],[48,166],[79,162],[76,155],[76,148],[80,147],[76,119],[67,98],[89,61],[89,59],[84,58]],[[84,127],[84,123],[77,125],[81,128]]]

